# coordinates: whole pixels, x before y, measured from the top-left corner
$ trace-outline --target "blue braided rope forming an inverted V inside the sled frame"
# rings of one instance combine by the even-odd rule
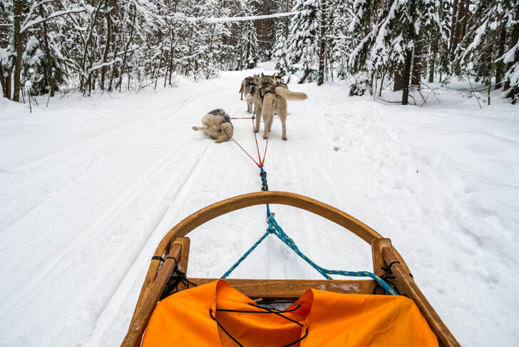
[[[371,277],[374,279],[374,281],[376,281],[376,283],[379,283],[382,288],[384,288],[385,291],[387,291],[388,293],[391,293],[392,295],[398,295],[396,293],[396,291],[394,291],[393,288],[391,288],[389,286],[389,284],[386,283],[386,281],[384,281],[382,278],[380,278],[379,276],[376,276],[374,273],[371,273],[369,271],[338,271],[338,270],[328,270],[326,268],[322,268],[321,266],[317,265],[316,263],[314,263],[312,260],[310,260],[310,258],[308,258],[307,256],[305,256],[302,251],[299,251],[299,248],[297,247],[297,245],[294,243],[294,240],[292,240],[292,238],[290,238],[287,233],[285,233],[283,231],[283,229],[281,228],[281,226],[279,226],[279,224],[277,223],[277,221],[274,219],[274,216],[269,216],[268,218],[268,222],[269,223],[269,226],[267,228],[267,232],[263,234],[263,236],[260,238],[260,240],[258,240],[250,249],[249,251],[245,252],[245,254],[240,258],[240,260],[238,260],[235,265],[233,265],[225,274],[224,276],[222,276],[222,278],[227,278],[227,276],[230,275],[230,273],[232,273],[232,271],[237,268],[238,265],[240,265],[240,263],[245,260],[245,258],[247,258],[247,256],[252,252],[254,251],[254,249],[264,240],[264,238],[266,238],[269,233],[273,233],[275,236],[277,236],[281,241],[283,241],[283,243],[285,243],[287,246],[289,246],[290,248],[292,248],[292,250],[297,253],[298,256],[300,256],[301,258],[304,259],[304,261],[306,261],[307,263],[309,263],[310,265],[312,265],[313,268],[315,268],[317,271],[319,271],[319,273],[322,274],[322,276],[324,276],[324,278],[327,278],[327,279],[333,279],[332,277],[330,277],[329,275],[341,275],[341,276],[356,276],[356,277]]]

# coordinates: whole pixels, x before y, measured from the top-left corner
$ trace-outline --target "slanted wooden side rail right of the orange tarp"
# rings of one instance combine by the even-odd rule
[[[382,248],[382,254],[388,264],[399,261],[399,258],[395,256],[390,247]],[[449,331],[445,323],[443,323],[440,316],[438,316],[438,313],[436,313],[431,303],[429,303],[427,298],[423,295],[420,288],[416,286],[413,278],[409,276],[406,268],[404,268],[401,263],[394,263],[391,266],[391,271],[393,271],[396,278],[398,278],[399,283],[406,288],[407,296],[416,303],[423,318],[426,318],[427,323],[441,342],[441,346],[461,347],[460,343],[458,343],[451,331]]]

